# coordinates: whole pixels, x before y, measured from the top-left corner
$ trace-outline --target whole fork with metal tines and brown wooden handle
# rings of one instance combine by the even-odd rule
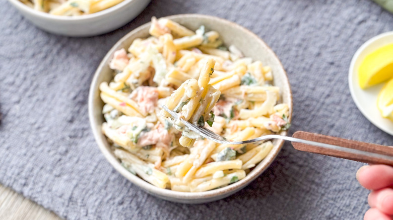
[[[258,141],[281,139],[290,141],[299,151],[311,152],[327,156],[339,157],[359,162],[373,164],[387,164],[393,166],[393,147],[337,138],[332,136],[297,131],[292,137],[282,135],[265,135],[246,141],[232,141],[217,135],[205,127],[194,125],[184,119],[179,119],[177,113],[162,105],[174,120],[180,120],[189,130],[219,144],[247,144]]]

